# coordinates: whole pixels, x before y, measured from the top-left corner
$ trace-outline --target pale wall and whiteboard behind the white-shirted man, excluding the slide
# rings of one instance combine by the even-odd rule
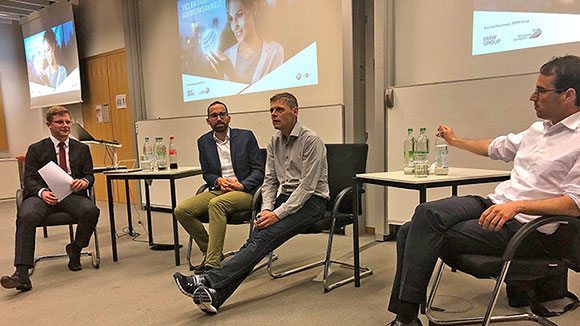
[[[402,168],[408,127],[416,135],[426,127],[431,142],[439,124],[450,125],[465,138],[492,138],[527,128],[537,119],[528,98],[540,65],[553,56],[580,53],[575,43],[472,57],[473,1],[392,1],[395,106],[387,110],[386,118],[388,170]],[[456,149],[450,150],[450,166],[511,168]],[[459,194],[491,191],[493,185],[469,186],[460,187]],[[432,190],[427,199],[450,193]],[[389,190],[387,218],[409,220],[417,203],[417,191]]]

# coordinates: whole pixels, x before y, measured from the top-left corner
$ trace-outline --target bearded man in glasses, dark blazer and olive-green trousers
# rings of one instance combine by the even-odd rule
[[[175,216],[192,236],[205,258],[194,272],[220,266],[226,216],[250,210],[252,194],[264,180],[264,163],[256,137],[249,130],[229,128],[226,105],[215,101],[207,109],[212,131],[197,140],[203,179],[211,187],[180,203]],[[209,235],[198,219],[209,215]]]

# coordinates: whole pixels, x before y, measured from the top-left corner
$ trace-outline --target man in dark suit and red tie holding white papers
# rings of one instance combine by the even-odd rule
[[[36,226],[54,212],[67,212],[78,216],[75,240],[66,245],[68,268],[80,271],[81,249],[89,244],[99,218],[99,209],[89,199],[87,189],[92,186],[93,160],[89,147],[69,138],[70,112],[63,106],[53,106],[46,112],[46,126],[50,137],[28,147],[24,167],[24,201],[16,219],[16,246],[12,276],[0,279],[2,287],[20,291],[32,289],[28,270],[34,266]],[[49,189],[38,170],[54,162],[74,180],[72,193],[64,199],[57,198]]]

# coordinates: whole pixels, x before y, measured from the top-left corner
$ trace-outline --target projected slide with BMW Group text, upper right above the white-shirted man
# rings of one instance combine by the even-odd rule
[[[580,42],[580,0],[475,0],[472,55]]]

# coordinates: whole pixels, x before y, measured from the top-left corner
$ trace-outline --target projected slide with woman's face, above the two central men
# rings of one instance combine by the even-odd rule
[[[284,37],[277,2],[178,1],[184,102],[318,84],[317,42]]]

